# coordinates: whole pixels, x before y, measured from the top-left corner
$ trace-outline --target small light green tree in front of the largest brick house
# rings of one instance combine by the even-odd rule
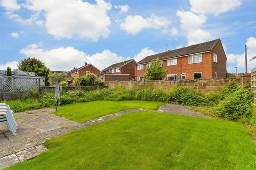
[[[151,61],[148,67],[146,67],[146,74],[144,78],[147,80],[163,80],[167,73],[167,70],[163,70],[163,62],[159,60],[159,57],[156,60]]]

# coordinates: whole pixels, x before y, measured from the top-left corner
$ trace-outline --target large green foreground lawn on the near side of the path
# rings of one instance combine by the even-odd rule
[[[240,123],[134,112],[46,141],[50,150],[7,169],[256,169]]]

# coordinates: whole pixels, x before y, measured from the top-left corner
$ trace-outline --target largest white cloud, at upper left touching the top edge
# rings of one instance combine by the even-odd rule
[[[29,0],[24,5],[28,10],[44,12],[45,28],[55,38],[79,37],[97,41],[107,38],[111,24],[107,12],[111,4],[97,0],[96,4],[82,0],[52,1]],[[44,24],[44,21],[37,21]]]

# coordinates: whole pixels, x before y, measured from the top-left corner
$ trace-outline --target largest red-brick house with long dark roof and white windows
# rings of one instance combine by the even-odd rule
[[[163,61],[164,80],[226,78],[227,57],[220,39],[150,55],[135,64],[135,78],[140,81],[150,62]]]

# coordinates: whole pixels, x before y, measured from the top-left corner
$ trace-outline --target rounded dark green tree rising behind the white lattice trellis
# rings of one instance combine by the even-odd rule
[[[20,71],[35,72],[39,76],[45,76],[45,72],[47,71],[44,63],[35,57],[28,57],[21,60],[18,63],[18,69]]]

